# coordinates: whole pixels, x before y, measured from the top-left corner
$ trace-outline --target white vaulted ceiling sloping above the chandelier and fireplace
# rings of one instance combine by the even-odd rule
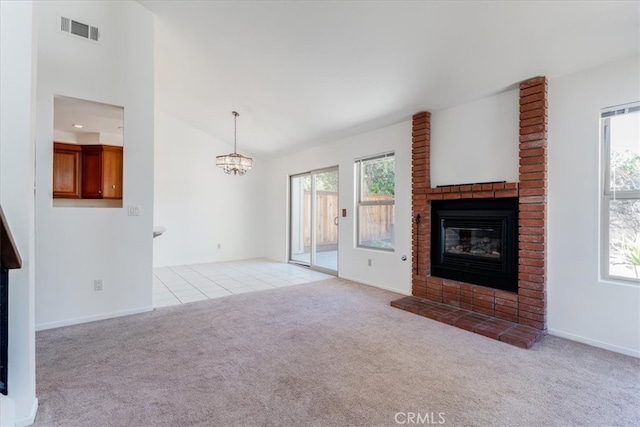
[[[141,1],[156,105],[269,158],[640,52],[637,1]]]

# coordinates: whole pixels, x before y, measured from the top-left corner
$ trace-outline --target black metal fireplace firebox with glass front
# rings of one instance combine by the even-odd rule
[[[431,202],[431,275],[518,291],[518,199]]]

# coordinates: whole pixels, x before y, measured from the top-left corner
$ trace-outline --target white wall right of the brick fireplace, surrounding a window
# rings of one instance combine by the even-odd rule
[[[640,357],[640,286],[599,279],[600,109],[640,100],[632,58],[549,82],[549,332]]]

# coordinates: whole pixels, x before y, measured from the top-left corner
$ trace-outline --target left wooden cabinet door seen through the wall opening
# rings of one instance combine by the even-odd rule
[[[80,146],[53,143],[53,197],[80,198]]]

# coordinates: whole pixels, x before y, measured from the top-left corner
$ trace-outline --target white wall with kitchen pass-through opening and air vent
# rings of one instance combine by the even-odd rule
[[[154,17],[131,1],[38,2],[36,11],[36,328],[150,310]],[[100,43],[59,32],[60,15],[98,26]],[[124,107],[125,208],[52,206],[54,95]],[[127,216],[127,205],[141,216]]]

